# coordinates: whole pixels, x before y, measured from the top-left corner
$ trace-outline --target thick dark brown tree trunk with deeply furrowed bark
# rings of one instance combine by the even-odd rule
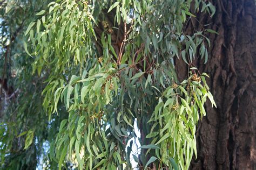
[[[256,169],[256,13],[254,0],[214,0],[213,18],[200,14],[197,19],[211,25],[206,65],[194,62],[208,73],[208,84],[217,109],[206,104],[207,116],[197,131],[198,158],[191,169]],[[187,33],[200,29],[191,20]],[[185,68],[185,69],[184,69]],[[180,80],[187,66],[177,61]]]

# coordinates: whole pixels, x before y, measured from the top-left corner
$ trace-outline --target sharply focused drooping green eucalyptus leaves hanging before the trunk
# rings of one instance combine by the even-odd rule
[[[206,99],[215,106],[208,75],[192,64],[207,61],[205,33],[213,31],[183,32],[197,12],[212,16],[215,8],[200,0],[65,0],[35,14],[24,49],[31,73],[45,77],[42,106],[49,121],[68,112],[50,162],[59,169],[134,168],[136,123],[141,153],[132,157],[139,168],[188,169]],[[175,60],[190,66],[186,80],[178,80]],[[26,136],[28,149],[33,131]]]

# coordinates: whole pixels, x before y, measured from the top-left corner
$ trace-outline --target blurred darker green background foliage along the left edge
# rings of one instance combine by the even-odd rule
[[[48,3],[0,2],[1,169],[35,169],[39,158],[46,158],[45,146],[55,139],[61,120],[67,116],[63,110],[62,115],[53,115],[48,122],[41,95],[47,74],[31,74],[33,59],[23,46],[24,33],[35,11],[47,8]],[[29,134],[33,137],[26,138]]]

